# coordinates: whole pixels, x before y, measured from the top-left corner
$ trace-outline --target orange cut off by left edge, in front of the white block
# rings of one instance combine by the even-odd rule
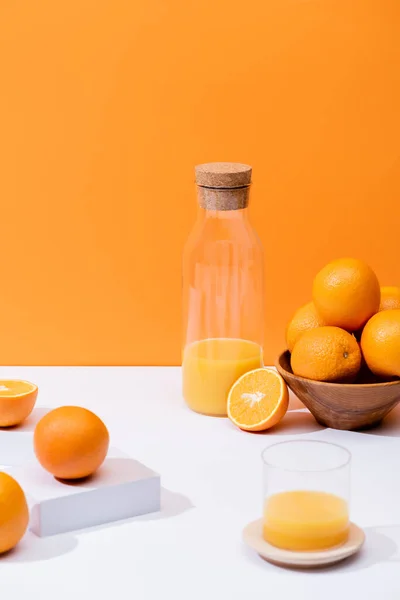
[[[0,554],[14,548],[29,523],[29,509],[21,486],[11,475],[0,473]]]

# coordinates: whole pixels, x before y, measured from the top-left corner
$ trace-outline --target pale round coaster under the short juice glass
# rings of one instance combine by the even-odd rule
[[[285,567],[303,567],[310,569],[322,565],[332,565],[353,554],[356,554],[365,541],[362,529],[354,523],[350,523],[349,539],[346,543],[328,550],[317,552],[291,552],[281,550],[266,542],[262,534],[263,520],[253,521],[246,525],[243,530],[243,540],[265,560]]]

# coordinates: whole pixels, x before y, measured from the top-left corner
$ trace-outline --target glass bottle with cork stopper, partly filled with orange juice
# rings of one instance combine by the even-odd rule
[[[252,169],[195,169],[198,217],[183,255],[183,396],[196,412],[226,416],[232,384],[263,364],[261,242],[248,216]]]

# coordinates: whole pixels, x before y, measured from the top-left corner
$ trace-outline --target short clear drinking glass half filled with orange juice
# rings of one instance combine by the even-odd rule
[[[316,551],[349,535],[350,453],[318,441],[273,444],[263,452],[263,537],[278,548]]]

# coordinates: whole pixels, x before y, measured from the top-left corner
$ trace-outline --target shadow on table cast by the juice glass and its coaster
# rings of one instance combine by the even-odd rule
[[[368,569],[369,567],[383,562],[396,563],[396,567],[394,568],[398,569],[400,565],[400,554],[398,554],[399,548],[396,538],[400,541],[400,525],[365,527],[364,532],[366,535],[365,544],[358,554],[327,567],[317,567],[314,569],[276,567],[269,564],[247,546],[245,547],[246,555],[254,564],[263,568],[269,567],[270,569],[280,569],[283,575],[285,574],[285,571],[302,572],[305,575],[311,574],[314,576],[319,573],[329,572],[335,572],[335,575],[340,575],[350,571]]]

